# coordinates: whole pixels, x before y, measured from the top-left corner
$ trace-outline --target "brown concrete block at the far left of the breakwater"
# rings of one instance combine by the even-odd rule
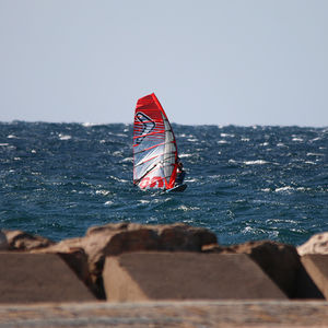
[[[95,301],[55,254],[0,253],[0,303]]]

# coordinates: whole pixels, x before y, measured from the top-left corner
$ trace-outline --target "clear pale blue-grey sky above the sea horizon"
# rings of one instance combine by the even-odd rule
[[[327,0],[0,0],[0,121],[328,126]]]

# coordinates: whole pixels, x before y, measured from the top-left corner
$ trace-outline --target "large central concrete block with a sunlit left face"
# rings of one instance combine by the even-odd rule
[[[245,254],[128,253],[107,257],[107,301],[286,300]]]

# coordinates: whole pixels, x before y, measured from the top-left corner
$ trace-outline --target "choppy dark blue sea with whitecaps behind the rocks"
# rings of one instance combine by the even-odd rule
[[[0,122],[0,229],[54,241],[109,222],[185,222],[220,244],[328,231],[328,128],[173,125],[188,188],[132,185],[132,125]]]

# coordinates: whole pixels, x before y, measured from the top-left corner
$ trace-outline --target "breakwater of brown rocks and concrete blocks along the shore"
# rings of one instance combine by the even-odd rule
[[[296,248],[271,241],[222,246],[211,231],[180,223],[107,224],[59,243],[2,231],[0,257],[8,265],[0,270],[0,303],[325,300],[327,247],[308,245],[326,235]]]

